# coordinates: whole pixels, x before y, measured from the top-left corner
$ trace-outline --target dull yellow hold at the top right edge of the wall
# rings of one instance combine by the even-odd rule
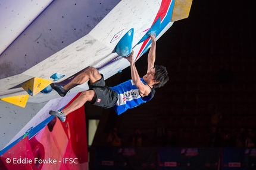
[[[171,22],[189,17],[192,0],[175,0]]]

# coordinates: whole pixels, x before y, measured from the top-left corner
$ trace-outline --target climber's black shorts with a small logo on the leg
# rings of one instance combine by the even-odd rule
[[[105,85],[104,76],[102,74],[101,79],[95,83],[90,84],[88,81],[88,86],[89,89],[93,89],[96,94],[96,100],[94,103],[92,103],[93,105],[97,105],[103,108],[111,108],[116,104],[118,100],[118,94]]]

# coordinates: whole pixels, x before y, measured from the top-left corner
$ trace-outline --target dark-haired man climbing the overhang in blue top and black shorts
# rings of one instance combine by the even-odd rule
[[[58,111],[49,111],[51,116],[65,121],[67,115],[82,107],[85,102],[90,102],[103,108],[113,107],[119,115],[127,109],[134,108],[144,102],[151,100],[155,94],[155,88],[160,88],[169,80],[167,69],[164,66],[155,65],[156,40],[155,35],[151,37],[151,48],[148,53],[148,70],[142,78],[139,76],[133,60],[133,51],[124,57],[130,62],[132,79],[119,85],[108,87],[105,85],[104,76],[97,69],[90,67],[80,73],[70,83],[64,86],[51,84],[52,88],[64,97],[67,92],[77,85],[84,84],[88,80],[89,90],[83,91],[67,108]]]

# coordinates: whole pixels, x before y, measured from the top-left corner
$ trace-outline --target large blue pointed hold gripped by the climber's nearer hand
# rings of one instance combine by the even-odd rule
[[[127,57],[132,53],[133,32],[134,29],[130,29],[115,46],[115,52],[119,56]]]

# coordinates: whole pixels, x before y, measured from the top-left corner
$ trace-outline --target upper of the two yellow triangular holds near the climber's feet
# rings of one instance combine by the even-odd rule
[[[46,86],[48,86],[49,84],[51,84],[52,81],[48,81],[46,79],[42,79],[42,78],[32,78],[29,81],[25,82],[23,85],[21,85],[21,87],[29,94],[29,95],[36,95],[38,94],[40,91],[42,91],[42,89],[46,88]]]

